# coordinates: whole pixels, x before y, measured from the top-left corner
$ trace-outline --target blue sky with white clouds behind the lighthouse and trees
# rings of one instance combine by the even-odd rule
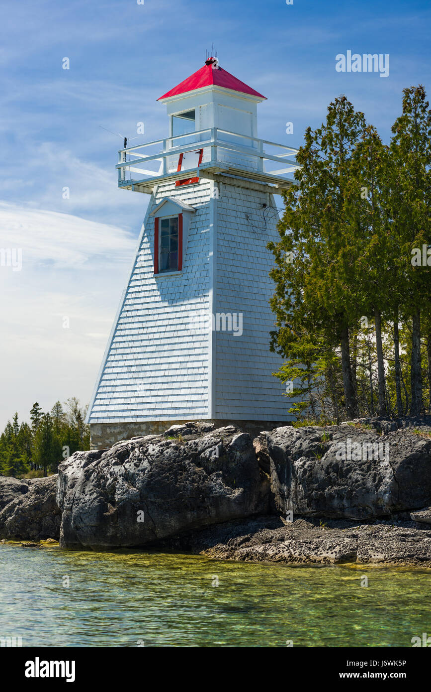
[[[292,147],[341,93],[385,142],[403,88],[431,95],[429,0],[0,8],[0,251],[11,253],[0,257],[0,429],[15,411],[28,420],[35,401],[90,401],[149,201],[117,189],[121,136],[133,145],[168,134],[156,100],[212,44],[222,68],[267,97],[258,135]],[[337,71],[347,51],[389,55],[389,74]]]

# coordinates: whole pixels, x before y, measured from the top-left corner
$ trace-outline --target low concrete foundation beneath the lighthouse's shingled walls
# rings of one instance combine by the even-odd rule
[[[131,439],[144,435],[161,435],[162,432],[171,426],[181,426],[190,423],[194,419],[189,418],[184,421],[146,421],[144,423],[93,423],[90,424],[90,446],[91,449],[106,449],[112,447],[120,439]],[[262,430],[274,430],[282,426],[291,425],[291,421],[224,421],[216,419],[200,419],[199,423],[213,423],[215,428],[224,426],[237,426],[243,432],[249,432],[251,437],[256,437]]]

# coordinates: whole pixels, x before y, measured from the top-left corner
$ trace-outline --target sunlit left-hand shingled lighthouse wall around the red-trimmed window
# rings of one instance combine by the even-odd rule
[[[205,418],[208,413],[207,334],[194,334],[196,311],[209,311],[211,183],[190,188],[160,185],[151,197],[144,233],[108,345],[88,422]],[[195,208],[184,248],[182,274],[156,279],[154,219],[164,197]]]

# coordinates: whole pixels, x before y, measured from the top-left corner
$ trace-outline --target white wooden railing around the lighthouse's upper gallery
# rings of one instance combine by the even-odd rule
[[[195,156],[187,156],[193,152]],[[244,170],[265,177],[274,176],[275,182],[277,178],[287,179],[288,174],[292,175],[299,167],[295,158],[298,149],[212,127],[120,149],[118,185],[128,187],[151,178],[177,174],[179,166],[181,172],[196,170],[198,152],[200,170],[217,167]]]

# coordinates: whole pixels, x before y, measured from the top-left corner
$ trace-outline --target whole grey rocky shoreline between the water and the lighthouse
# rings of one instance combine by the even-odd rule
[[[58,477],[0,477],[0,538],[431,568],[430,504],[430,417],[287,426],[254,440],[191,423],[77,452]]]

